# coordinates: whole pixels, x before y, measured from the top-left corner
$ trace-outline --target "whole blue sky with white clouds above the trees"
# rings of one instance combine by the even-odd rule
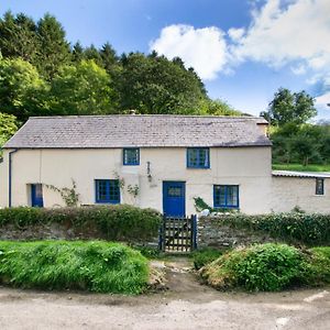
[[[2,0],[8,10],[54,14],[72,43],[180,56],[211,98],[243,112],[258,114],[287,87],[330,119],[329,0]]]

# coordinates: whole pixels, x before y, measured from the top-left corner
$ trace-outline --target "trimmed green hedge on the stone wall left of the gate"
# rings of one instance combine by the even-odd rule
[[[96,232],[111,241],[145,241],[157,235],[162,216],[153,209],[128,205],[80,208],[6,208],[0,209],[0,226],[25,229],[58,223],[75,232]]]

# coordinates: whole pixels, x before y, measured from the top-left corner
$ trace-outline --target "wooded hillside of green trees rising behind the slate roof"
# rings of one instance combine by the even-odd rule
[[[70,45],[62,24],[7,12],[0,19],[0,111],[30,116],[138,113],[240,114],[211,100],[193,68],[156,53],[122,54]],[[8,118],[7,118],[8,120]]]

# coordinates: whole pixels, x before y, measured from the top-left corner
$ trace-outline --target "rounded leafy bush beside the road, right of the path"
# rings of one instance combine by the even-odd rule
[[[286,244],[257,244],[223,254],[201,268],[200,275],[218,289],[277,292],[299,285],[323,285],[330,283],[329,248],[321,251],[302,253]]]

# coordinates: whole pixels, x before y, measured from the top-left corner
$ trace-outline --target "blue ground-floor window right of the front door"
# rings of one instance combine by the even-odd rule
[[[213,206],[215,208],[238,209],[240,206],[239,186],[215,185]]]

